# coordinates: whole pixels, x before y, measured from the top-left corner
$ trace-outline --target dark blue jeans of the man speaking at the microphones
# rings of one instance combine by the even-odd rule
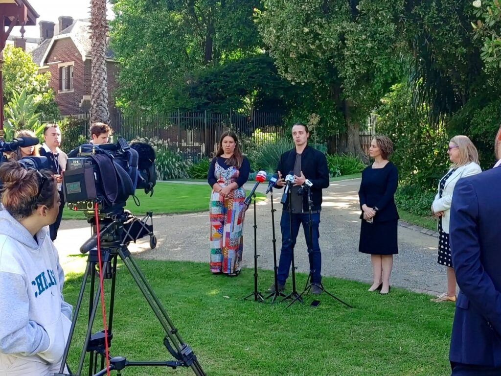
[[[320,238],[319,224],[320,213],[312,214],[312,242],[310,241],[310,214],[292,214],[291,224],[289,223],[291,214],[283,211],[280,220],[280,229],[282,230],[282,250],[280,252],[278,282],[281,285],[285,284],[287,277],[289,277],[289,270],[291,269],[292,252],[296,245],[296,238],[298,237],[299,227],[303,225],[305,232],[306,245],[308,246],[308,258],[310,260],[310,273],[312,274],[312,283],[319,284],[322,280],[320,271],[322,268],[322,254],[320,253]],[[292,225],[292,226],[291,226]],[[292,233],[291,233],[292,227]]]

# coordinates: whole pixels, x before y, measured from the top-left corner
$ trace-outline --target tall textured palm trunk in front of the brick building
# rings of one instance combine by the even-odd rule
[[[108,124],[108,80],[106,70],[108,22],[106,0],[91,0],[91,121]]]

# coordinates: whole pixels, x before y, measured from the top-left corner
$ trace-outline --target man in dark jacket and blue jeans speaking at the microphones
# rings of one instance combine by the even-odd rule
[[[310,133],[308,127],[303,123],[296,123],[292,127],[292,137],[295,147],[286,151],[280,157],[279,165],[277,166],[278,180],[277,187],[286,187],[284,195],[291,195],[290,200],[282,200],[283,211],[280,220],[280,229],[282,231],[282,249],[280,252],[280,261],[278,267],[278,289],[283,291],[285,283],[289,277],[289,270],[292,262],[292,252],[296,245],[299,228],[303,225],[305,232],[306,244],[308,246],[310,271],[312,273],[312,293],[321,294],[321,268],[322,255],[319,245],[319,224],[320,211],[322,209],[322,189],[329,186],[329,168],[327,167],[327,158],[317,149],[308,146],[308,137]],[[283,174],[288,171],[293,171],[293,180],[288,184],[287,175],[284,178]],[[307,191],[303,189],[304,194],[298,195],[301,186],[309,180],[309,190],[311,191],[312,199],[312,239],[310,240],[310,207],[308,203]],[[291,203],[291,207],[289,207]],[[268,292],[275,292],[275,283],[272,284]]]

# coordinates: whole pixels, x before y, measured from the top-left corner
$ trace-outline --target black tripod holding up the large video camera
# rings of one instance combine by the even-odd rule
[[[91,223],[92,221],[89,220]],[[122,232],[123,232],[123,221],[120,216],[113,217],[111,219],[106,218],[105,221],[109,223],[106,226],[100,226],[99,238],[101,241],[101,259],[102,266],[99,269],[98,263],[98,251],[97,245],[97,233],[96,233],[96,223],[92,223],[94,235],[84,243],[80,248],[80,252],[88,253],[87,268],[85,270],[84,278],[82,280],[82,286],[80,288],[80,293],[78,296],[77,304],[75,307],[75,313],[71,323],[70,334],[68,337],[68,342],[65,347],[63,354],[62,365],[59,373],[54,376],[80,376],[82,374],[82,368],[85,361],[86,352],[89,352],[89,376],[102,376],[107,373],[105,368],[106,361],[106,348],[105,344],[108,343],[108,347],[111,345],[111,340],[113,338],[112,324],[113,324],[113,309],[115,302],[115,285],[116,285],[116,271],[117,271],[117,258],[120,257],[127,270],[132,275],[132,278],[136,282],[137,286],[141,290],[146,301],[150,305],[153,313],[158,318],[161,326],[165,331],[165,337],[163,340],[164,346],[174,357],[175,360],[159,360],[159,361],[131,361],[127,360],[123,356],[109,355],[108,360],[110,363],[110,370],[118,371],[121,374],[121,370],[125,367],[131,366],[167,366],[171,368],[177,367],[190,367],[194,374],[197,376],[205,376],[196,355],[193,353],[191,347],[186,344],[181,335],[179,334],[177,328],[174,326],[170,320],[165,308],[162,306],[160,300],[156,296],[155,292],[151,286],[146,281],[144,274],[139,269],[136,261],[132,258],[130,251],[127,246],[122,244]],[[98,283],[97,289],[95,291],[96,276],[99,280],[99,273],[103,273],[103,279],[111,279],[111,292],[110,292],[110,306],[108,314],[108,324],[107,324],[107,336],[105,338],[105,331],[100,331],[91,335],[92,326],[94,319],[96,317],[96,311],[98,303],[100,301],[101,285]],[[80,361],[78,364],[78,369],[76,373],[64,373],[65,364],[67,362],[69,348],[75,331],[75,325],[78,319],[78,314],[80,312],[82,300],[84,297],[84,291],[87,283],[87,278],[91,277],[90,281],[90,296],[89,296],[89,319],[88,327],[85,335],[84,345],[82,347],[82,352],[80,354]],[[95,291],[95,296],[94,296]],[[100,357],[100,362],[98,364],[98,358]]]

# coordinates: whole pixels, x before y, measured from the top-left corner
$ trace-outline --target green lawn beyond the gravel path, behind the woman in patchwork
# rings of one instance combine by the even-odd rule
[[[247,191],[248,194],[248,191]],[[140,206],[136,206],[133,198],[127,201],[126,209],[136,216],[144,216],[146,212],[159,214],[194,213],[209,210],[210,187],[207,184],[183,184],[159,181],[155,185],[152,197],[145,195],[143,190],[136,191]],[[256,193],[258,200],[266,196]],[[65,204],[63,219],[85,219],[82,212],[68,209]]]

